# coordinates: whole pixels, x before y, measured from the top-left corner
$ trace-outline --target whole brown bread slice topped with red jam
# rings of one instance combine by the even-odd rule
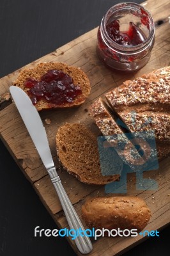
[[[50,81],[49,77],[47,77],[48,72],[51,70],[62,72],[60,76],[55,74],[55,81],[53,80],[54,76],[52,77],[51,74],[49,75]],[[42,79],[45,79],[45,83],[43,81],[43,85],[41,87],[38,85],[35,89],[35,81],[37,83]],[[27,81],[32,83],[28,84]],[[38,111],[79,106],[86,100],[91,90],[89,79],[81,68],[70,67],[66,63],[53,62],[40,63],[34,68],[25,68],[20,72],[13,85],[19,86],[31,97]],[[79,93],[77,94],[76,92],[78,91]]]

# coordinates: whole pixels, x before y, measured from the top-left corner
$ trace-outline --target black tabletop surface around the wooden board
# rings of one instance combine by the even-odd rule
[[[119,2],[0,0],[0,77],[97,27],[105,12]],[[1,140],[0,173],[0,255],[75,255],[65,238],[34,237],[36,226],[58,227]],[[123,255],[166,255],[169,231],[164,228],[160,237],[151,237]]]

